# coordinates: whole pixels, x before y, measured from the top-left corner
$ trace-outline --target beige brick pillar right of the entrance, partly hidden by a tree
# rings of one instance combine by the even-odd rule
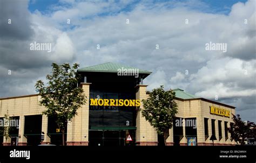
[[[141,85],[141,84],[136,86],[136,99],[140,100],[140,109],[143,109],[142,100],[147,98],[146,87],[147,85]],[[150,125],[149,122],[146,121],[144,117],[142,117],[142,114],[140,111],[137,112],[136,126],[137,126],[137,130],[136,130],[137,145],[142,145],[142,146],[158,145],[156,130],[153,128],[153,126]]]

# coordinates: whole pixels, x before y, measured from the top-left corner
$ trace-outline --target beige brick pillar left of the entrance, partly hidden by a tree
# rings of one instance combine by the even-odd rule
[[[84,94],[87,97],[86,104],[77,110],[77,114],[70,124],[67,131],[67,145],[88,145],[89,137],[89,95],[91,83],[80,83]]]

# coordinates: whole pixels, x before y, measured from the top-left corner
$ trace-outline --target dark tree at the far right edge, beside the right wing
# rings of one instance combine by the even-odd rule
[[[246,139],[256,138],[256,128],[253,122],[243,122],[240,115],[233,115],[232,119],[234,123],[228,129],[228,132],[231,133],[231,141],[234,140],[237,144],[245,145]]]

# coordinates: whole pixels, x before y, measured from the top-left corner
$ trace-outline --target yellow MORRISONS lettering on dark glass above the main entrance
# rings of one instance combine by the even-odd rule
[[[90,99],[92,106],[125,106],[125,107],[139,107],[140,100],[123,100],[123,99]]]

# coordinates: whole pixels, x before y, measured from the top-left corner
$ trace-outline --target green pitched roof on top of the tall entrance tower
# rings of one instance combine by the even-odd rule
[[[106,62],[100,65],[95,65],[95,66],[89,66],[89,67],[85,67],[85,68],[80,68],[78,69],[78,72],[106,72],[106,73],[117,73],[118,69],[129,69],[129,68],[133,68],[133,69],[137,69],[135,67],[130,67],[130,66],[124,66],[124,65],[120,65],[118,63],[112,63],[112,62]],[[142,70],[139,69],[139,73],[140,74],[151,74],[151,72],[147,71],[147,70]]]

